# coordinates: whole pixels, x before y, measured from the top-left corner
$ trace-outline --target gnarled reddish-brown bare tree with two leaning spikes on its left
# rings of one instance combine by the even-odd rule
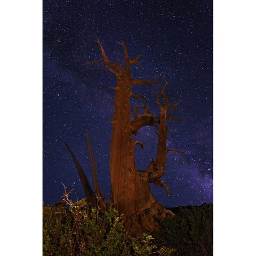
[[[172,116],[173,111],[177,110],[176,107],[181,101],[175,101],[173,103],[168,101],[164,93],[167,82],[165,78],[163,78],[165,84],[162,91],[155,92],[156,102],[160,109],[160,116],[156,117],[150,113],[148,106],[135,106],[133,109],[133,119],[131,119],[130,97],[141,98],[148,101],[143,95],[134,95],[132,86],[136,84],[156,85],[158,84],[157,77],[155,81],[149,81],[147,79],[138,80],[131,76],[130,67],[131,65],[141,65],[139,62],[141,54],[135,59],[130,59],[123,42],[118,44],[123,48],[125,67],[120,65],[118,55],[117,62],[109,61],[99,38],[97,38],[97,43],[100,47],[102,59],[94,60],[85,63],[84,65],[103,62],[104,66],[117,78],[116,87],[111,87],[115,90],[115,110],[113,121],[111,121],[113,132],[110,145],[110,205],[114,206],[120,214],[123,214],[126,226],[131,234],[141,235],[145,230],[155,231],[159,229],[158,222],[154,218],[155,215],[161,217],[174,215],[171,211],[166,210],[162,204],[156,201],[151,193],[149,184],[154,183],[156,186],[164,187],[167,194],[171,196],[168,186],[163,183],[160,178],[164,174],[167,153],[169,151],[178,153],[186,152],[166,148],[167,133],[169,132],[166,121],[182,121],[181,119]],[[138,115],[138,108],[144,109],[145,113]],[[144,145],[141,141],[135,140],[135,137],[140,128],[147,125],[159,127],[159,130],[156,131],[158,134],[157,157],[156,159],[151,159],[147,170],[137,170],[134,158],[135,146],[139,144],[143,149]],[[87,201],[92,206],[99,206],[101,211],[104,211],[107,209],[108,203],[98,185],[88,134],[87,142],[92,163],[95,193],[73,151],[69,148],[67,143],[66,146],[78,170]]]

